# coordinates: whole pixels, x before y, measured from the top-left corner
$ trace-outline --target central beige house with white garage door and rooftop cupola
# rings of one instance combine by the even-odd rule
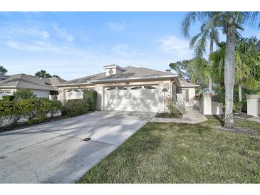
[[[98,92],[98,110],[163,112],[167,97],[176,100],[177,93],[182,90],[191,90],[184,100],[189,103],[194,99],[197,85],[180,84],[176,74],[132,66],[107,65],[104,68],[104,73],[55,85],[59,91],[58,100],[83,98],[85,90],[95,90]]]

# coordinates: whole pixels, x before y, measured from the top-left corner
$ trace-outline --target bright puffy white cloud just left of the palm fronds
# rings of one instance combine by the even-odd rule
[[[189,48],[189,41],[186,41],[177,36],[165,36],[155,41],[159,43],[160,51],[165,54],[174,54],[180,58],[190,58],[192,51]]]

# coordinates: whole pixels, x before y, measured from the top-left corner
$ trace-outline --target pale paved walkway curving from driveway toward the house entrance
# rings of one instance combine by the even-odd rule
[[[160,118],[153,117],[150,122],[175,122],[175,123],[187,123],[187,124],[197,124],[199,122],[206,121],[207,118],[202,115],[199,110],[194,107],[187,107],[187,113],[183,115],[183,118]]]

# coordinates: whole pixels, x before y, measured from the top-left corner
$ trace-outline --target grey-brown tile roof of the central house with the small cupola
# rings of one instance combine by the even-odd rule
[[[147,77],[157,77],[157,76],[165,76],[165,75],[174,75],[172,73],[167,73],[159,70],[152,70],[150,68],[136,68],[132,66],[125,67],[125,71],[122,73],[117,73],[115,75],[105,76],[104,73],[99,73],[95,75],[86,76],[83,78],[77,78],[74,80],[69,80],[62,84],[72,84],[72,83],[88,83],[91,80],[113,80],[120,78],[147,78]]]

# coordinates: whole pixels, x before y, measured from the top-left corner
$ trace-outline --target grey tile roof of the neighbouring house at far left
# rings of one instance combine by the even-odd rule
[[[35,90],[55,90],[51,81],[26,74],[9,75],[9,78],[0,80],[1,87],[26,88]]]

